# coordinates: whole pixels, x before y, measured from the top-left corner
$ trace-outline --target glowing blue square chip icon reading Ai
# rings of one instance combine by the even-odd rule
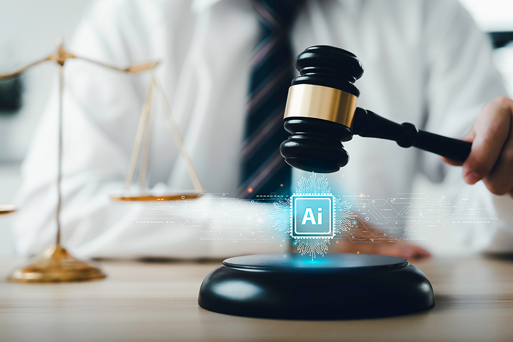
[[[334,197],[292,195],[292,237],[333,237]]]

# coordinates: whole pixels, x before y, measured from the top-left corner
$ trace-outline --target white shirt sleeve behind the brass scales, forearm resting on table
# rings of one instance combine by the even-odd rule
[[[119,67],[160,59],[148,45],[151,29],[140,21],[143,15],[136,15],[140,10],[136,4],[96,2],[78,26],[70,51]],[[272,243],[214,244],[198,238],[201,230],[210,228],[206,222],[195,227],[154,224],[153,219],[145,219],[146,204],[113,203],[110,195],[124,186],[149,75],[127,75],[73,59],[66,62],[64,74],[60,221],[61,242],[71,253],[196,258],[284,250]],[[14,222],[16,251],[22,255],[40,253],[55,242],[56,82],[53,88],[22,165]]]

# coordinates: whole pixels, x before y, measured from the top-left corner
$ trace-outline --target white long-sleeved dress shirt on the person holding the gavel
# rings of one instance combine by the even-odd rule
[[[162,61],[154,74],[202,183],[210,193],[235,196],[249,60],[258,30],[246,0],[104,0],[90,6],[70,51],[121,67]],[[485,102],[506,94],[487,37],[453,0],[310,0],[291,35],[294,54],[312,45],[356,54],[365,68],[357,81],[358,105],[431,132],[464,135]],[[148,74],[66,62],[64,245],[95,257],[218,257],[284,250],[277,244],[200,240],[197,232],[179,225],[136,225],[127,217],[139,215],[134,210],[142,204],[112,203],[109,195],[123,187],[148,84]],[[350,161],[329,175],[333,189],[388,198],[410,192],[413,176],[423,172],[434,182],[445,182],[448,196],[475,199],[500,218],[486,228],[467,226],[462,238],[469,245],[513,249],[509,196],[492,195],[482,182],[466,185],[461,168],[443,164],[437,155],[358,136],[344,146]],[[55,91],[23,164],[15,223],[18,253],[40,252],[54,240],[56,158]],[[149,160],[150,188],[192,189],[159,105]],[[294,171],[293,184],[300,175]],[[502,245],[494,243],[497,236]]]

